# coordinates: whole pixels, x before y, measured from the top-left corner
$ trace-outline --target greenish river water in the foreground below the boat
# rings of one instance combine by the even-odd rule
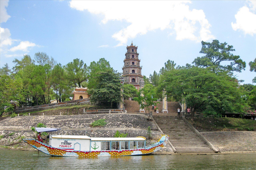
[[[238,170],[256,169],[256,153],[172,154],[116,157],[52,157],[37,151],[0,149],[1,170]]]

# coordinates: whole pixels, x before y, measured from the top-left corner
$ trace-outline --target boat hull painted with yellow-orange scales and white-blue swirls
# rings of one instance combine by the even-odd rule
[[[163,138],[164,136],[162,136]],[[97,156],[134,156],[134,155],[146,155],[158,151],[166,145],[168,140],[168,135],[165,137],[165,140],[158,142],[152,147],[146,147],[145,149],[131,149],[131,150],[107,150],[107,151],[70,151],[65,149],[60,149],[52,147],[43,142],[39,142],[35,139],[23,139],[32,147],[37,150],[51,155],[51,156],[73,156],[73,157],[97,157]]]

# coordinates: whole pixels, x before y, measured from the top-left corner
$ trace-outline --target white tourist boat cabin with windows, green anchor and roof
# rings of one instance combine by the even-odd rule
[[[111,151],[145,149],[142,137],[89,137],[77,135],[50,135],[49,145],[70,151]]]

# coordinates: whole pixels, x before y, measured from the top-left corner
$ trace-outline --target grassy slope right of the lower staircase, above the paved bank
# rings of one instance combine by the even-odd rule
[[[256,131],[256,121],[238,118],[195,118],[188,121],[198,131]]]

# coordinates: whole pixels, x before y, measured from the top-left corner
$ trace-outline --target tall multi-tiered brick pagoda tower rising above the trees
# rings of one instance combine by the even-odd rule
[[[138,58],[139,53],[137,52],[138,46],[131,43],[127,45],[127,52],[125,53],[124,66],[123,66],[123,77],[124,83],[132,84],[137,90],[140,90],[140,80],[143,79],[141,74],[142,66],[140,66],[140,60]]]

